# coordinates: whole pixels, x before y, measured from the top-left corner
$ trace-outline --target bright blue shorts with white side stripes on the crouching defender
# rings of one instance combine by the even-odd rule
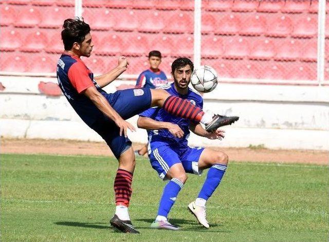
[[[201,175],[202,170],[198,169],[198,161],[201,153],[205,148],[189,147],[174,148],[170,145],[163,145],[151,151],[150,162],[155,171],[159,174],[159,178],[166,180],[167,172],[170,167],[176,163],[181,163],[185,172]]]

